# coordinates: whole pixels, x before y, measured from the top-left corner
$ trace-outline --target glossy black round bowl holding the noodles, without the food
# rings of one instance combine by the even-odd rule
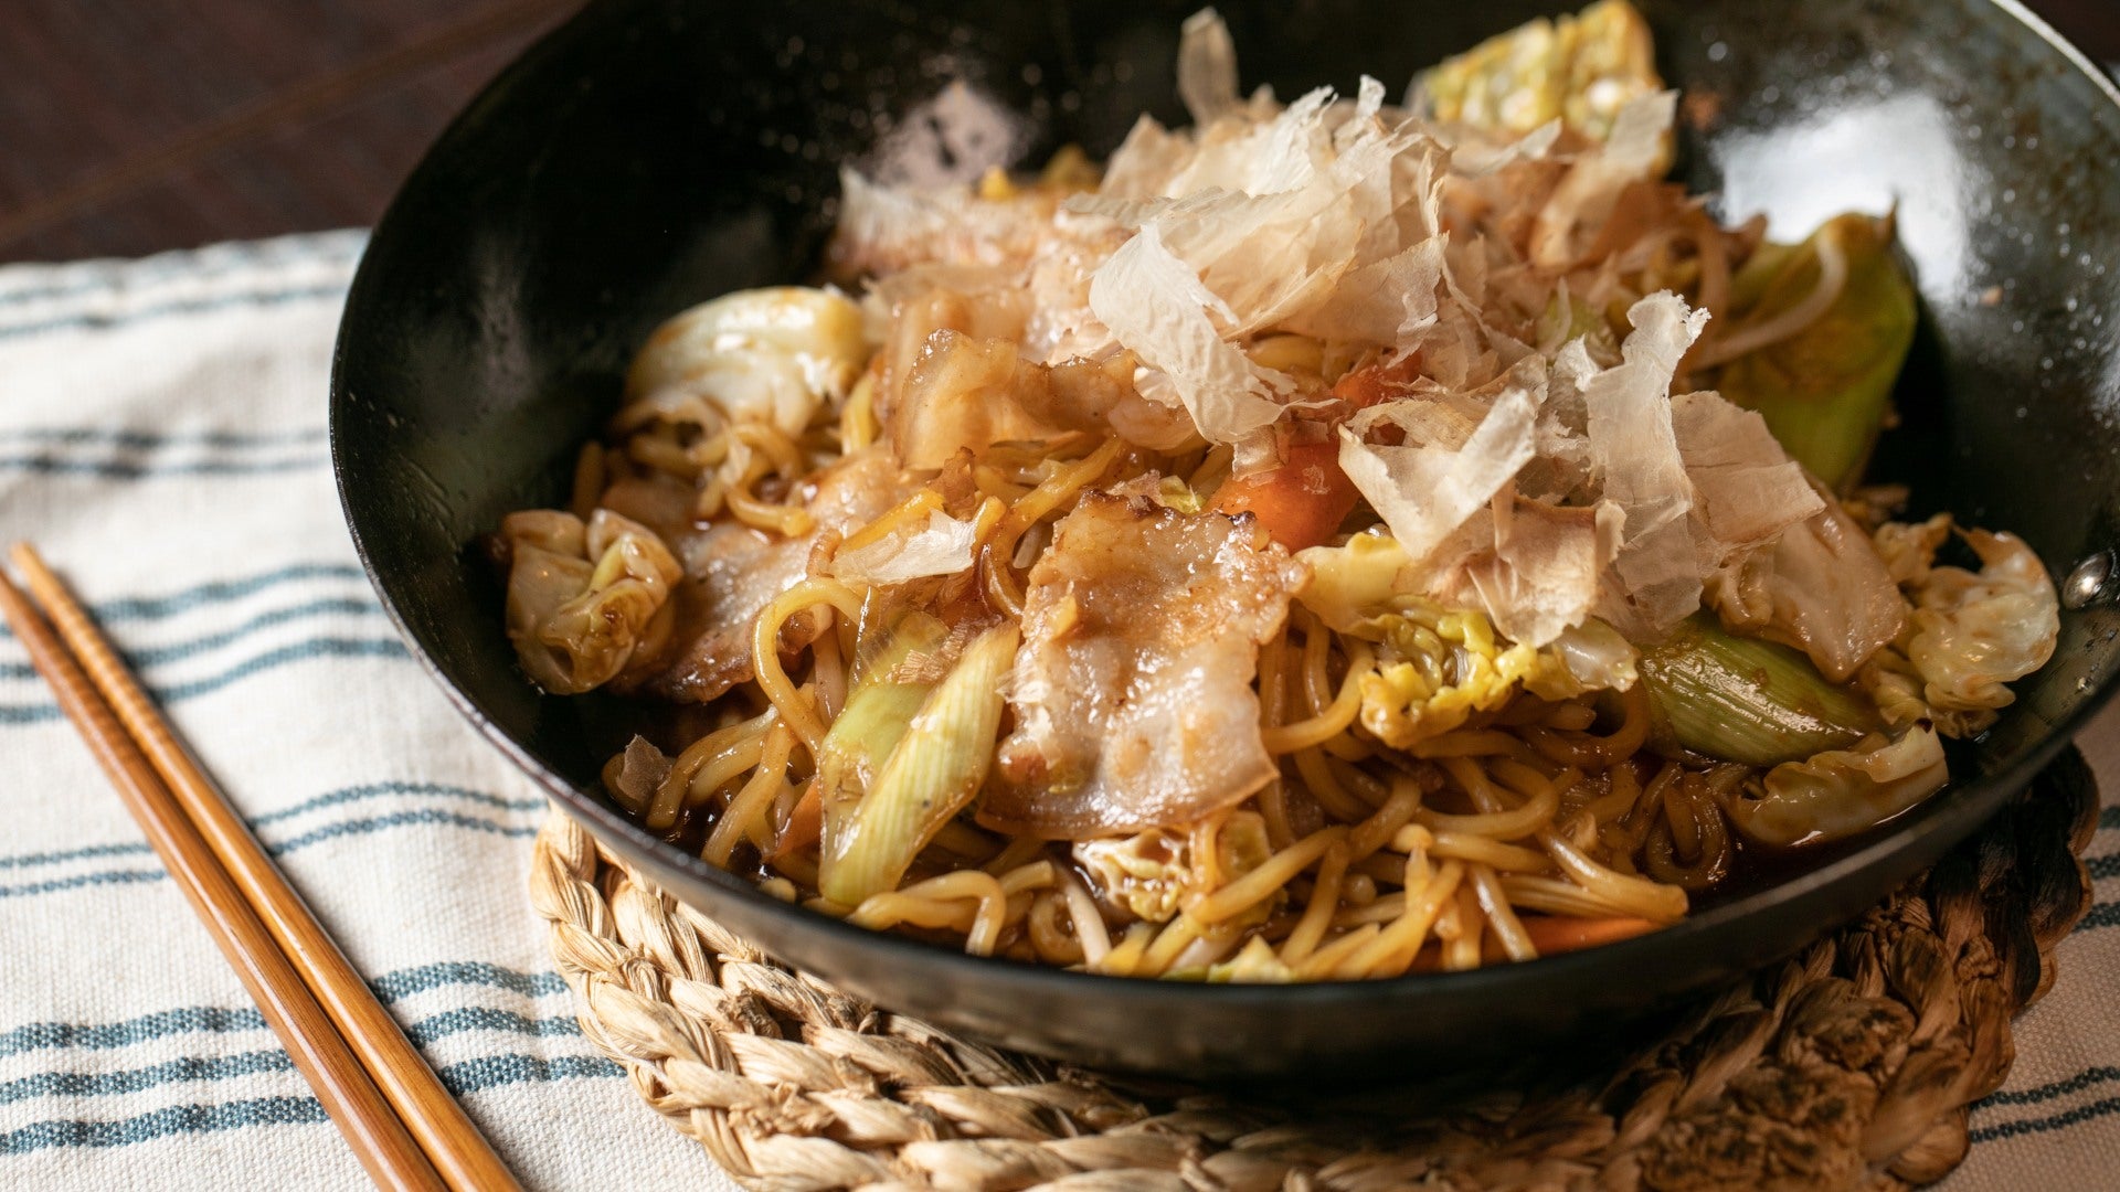
[[[1094,1065],[1264,1075],[1418,1071],[1535,1048],[1789,954],[1967,836],[2107,694],[2103,607],[1961,781],[1883,838],[1668,931],[1473,974],[1194,986],[979,961],[782,906],[634,827],[600,793],[608,698],[515,668],[479,551],[562,501],[634,346],[706,297],[814,274],[835,170],[965,78],[1024,115],[1011,148],[1117,144],[1166,121],[1183,4],[611,0],[538,42],[456,121],[354,280],[333,373],[346,515],[413,651],[509,757],[664,889],[886,1007]],[[1418,66],[1560,4],[1223,4],[1247,85],[1283,95]],[[2120,95],[1993,0],[1649,0],[1688,93],[1679,174],[1783,235],[1900,210],[1927,333],[1880,467],[1916,507],[2025,534],[2056,573],[2120,511]],[[1416,1067],[1408,1067],[1416,1065]]]

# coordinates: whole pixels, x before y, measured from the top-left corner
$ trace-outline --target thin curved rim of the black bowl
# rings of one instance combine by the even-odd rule
[[[2078,74],[2086,76],[2097,93],[2109,104],[2107,115],[2120,121],[2120,85],[2107,76],[2088,55],[2075,49],[2067,38],[2063,38],[2052,25],[2048,25],[2039,15],[2031,13],[2020,0],[1974,0],[1976,4],[1991,6],[2003,17],[2014,19],[2025,25],[2037,40],[2046,42],[2048,49],[2056,51]],[[369,248],[384,242],[390,229],[401,218],[403,195],[413,191],[424,174],[435,170],[435,159],[443,153],[456,138],[466,136],[466,129],[479,119],[481,108],[485,108],[494,95],[511,89],[519,78],[536,72],[547,57],[564,53],[566,45],[577,36],[577,30],[596,21],[608,19],[608,13],[625,8],[621,2],[591,2],[577,11],[572,17],[560,25],[541,34],[528,49],[524,49],[509,66],[505,66],[485,87],[479,89],[464,110],[460,110],[449,125],[435,138],[435,142],[422,153],[418,165],[407,174],[399,189],[399,195],[384,210],[382,218],[375,223],[369,235]],[[2120,129],[2120,125],[2116,125]],[[2120,132],[2116,132],[2120,138]],[[1401,974],[1395,978],[1363,978],[1363,980],[1319,980],[1319,982],[1287,982],[1287,984],[1215,984],[1215,982],[1170,982],[1170,980],[1143,980],[1143,978],[1121,978],[1107,974],[1083,974],[1060,969],[1052,965],[1032,965],[1022,961],[1009,961],[1001,957],[973,957],[960,950],[926,944],[899,935],[893,931],[873,931],[865,927],[854,927],[844,921],[816,914],[801,906],[791,906],[772,895],[763,893],[750,880],[731,874],[727,870],[714,867],[704,859],[685,853],[676,844],[670,844],[655,836],[653,831],[640,827],[619,808],[608,804],[598,793],[577,787],[562,774],[553,772],[545,761],[541,761],[526,744],[509,736],[494,717],[473,700],[464,689],[460,689],[443,670],[443,666],[428,653],[420,634],[411,628],[405,611],[377,571],[375,558],[363,537],[363,522],[356,513],[354,484],[350,484],[350,471],[346,467],[346,445],[341,426],[350,416],[354,405],[346,388],[346,358],[348,344],[354,337],[354,312],[360,310],[360,299],[377,282],[369,263],[369,252],[363,252],[363,261],[354,274],[348,288],[346,308],[341,314],[339,331],[333,344],[331,361],[331,395],[329,395],[329,437],[331,437],[331,462],[333,481],[339,494],[339,507],[346,518],[348,532],[354,541],[354,549],[360,556],[360,566],[375,588],[375,594],[390,617],[392,628],[407,645],[411,658],[418,660],[428,679],[432,679],[449,698],[449,704],[469,719],[479,734],[485,736],[509,761],[515,764],[519,772],[530,776],[547,797],[555,800],[577,823],[587,827],[615,853],[625,855],[630,863],[638,863],[651,872],[678,874],[693,882],[712,887],[721,897],[734,897],[750,908],[761,910],[767,918],[772,916],[801,916],[801,927],[820,933],[831,946],[850,948],[854,952],[869,952],[884,963],[918,963],[935,971],[943,980],[967,978],[988,984],[1035,984],[1058,993],[1094,993],[1098,999],[1119,999],[1130,1003],[1158,1003],[1158,1005],[1191,1005],[1200,999],[1215,999],[1217,1005],[1227,1007],[1274,1007],[1289,1012],[1331,1012],[1344,1005],[1372,1003],[1372,1001],[1401,1001],[1412,1007],[1412,1001],[1423,995],[1450,995],[1450,997],[1480,997],[1484,991],[1501,991],[1520,986],[1524,982],[1556,980],[1565,982],[1571,974],[1603,969],[1611,965],[1637,967],[1637,971],[1654,971],[1656,957],[1671,950],[1692,948],[1696,942],[1719,937],[1724,931],[1732,929],[1736,923],[1751,918],[1774,904],[1798,899],[1806,893],[1821,893],[1827,887],[1855,880],[1861,872],[1885,865],[1891,857],[1912,851],[1919,842],[1931,840],[1936,836],[1948,836],[1953,842],[1969,836],[1980,823],[1991,819],[2016,791],[2022,791],[2056,755],[2069,749],[2088,723],[2105,704],[2120,691],[2120,668],[2114,668],[2095,679],[2090,691],[2086,691],[2067,715],[2052,721],[2035,744],[2027,747],[2008,766],[1993,770],[1989,774],[1978,774],[1963,783],[1953,783],[1940,791],[1938,800],[1948,800],[1946,806],[1929,812],[1921,819],[1900,817],[1897,827],[1880,831],[1876,840],[1861,844],[1859,848],[1834,857],[1832,861],[1802,870],[1783,880],[1764,884],[1755,891],[1747,891],[1730,901],[1721,901],[1700,912],[1692,912],[1679,923],[1637,935],[1630,940],[1603,944],[1596,948],[1584,948],[1575,952],[1562,952],[1554,957],[1539,957],[1522,963],[1505,965],[1482,965],[1469,971],[1425,971],[1425,974]],[[2052,573],[2050,573],[2052,575]],[[496,621],[498,624],[498,621]],[[2048,662],[2052,664],[2052,662]],[[524,679],[528,683],[528,677]],[[547,696],[549,698],[549,696]],[[672,897],[681,901],[693,901],[683,889],[670,889]],[[1821,925],[1821,931],[1830,925]],[[759,940],[757,944],[767,946],[770,940]],[[765,948],[774,954],[772,948]]]

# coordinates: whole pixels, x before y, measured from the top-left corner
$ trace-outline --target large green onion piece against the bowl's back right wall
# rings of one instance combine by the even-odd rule
[[[1844,214],[1827,221],[1794,252],[1762,257],[1777,263],[1760,286],[1747,265],[1732,282],[1730,339],[1770,325],[1819,291],[1821,250],[1847,267],[1840,295],[1794,335],[1732,358],[1715,378],[1730,401],[1757,409],[1768,431],[1836,492],[1861,479],[1878,431],[1891,416],[1891,388],[1914,341],[1914,286],[1891,252],[1889,218]],[[1743,299],[1757,288],[1757,299]]]

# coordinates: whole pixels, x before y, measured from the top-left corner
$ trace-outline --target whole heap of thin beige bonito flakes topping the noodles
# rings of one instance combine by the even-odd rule
[[[1645,189],[1671,153],[1660,83],[1615,102],[1605,134],[1526,136],[1427,123],[1374,78],[1289,104],[1238,85],[1230,32],[1202,11],[1179,51],[1191,127],[1141,117],[1088,191],[975,199],[850,178],[840,259],[975,267],[982,293],[1022,305],[1022,358],[1098,369],[1117,386],[1107,405],[1136,422],[1168,411],[1153,435],[1113,414],[1134,443],[1232,445],[1244,475],[1336,435],[1403,549],[1401,588],[1535,647],[1592,617],[1658,638],[1711,579],[1757,571],[1819,515],[1755,414],[1673,397],[1707,312],[1613,288],[1615,225],[1688,218]],[[1624,337],[1605,314],[1620,293]],[[1283,333],[1412,367],[1365,407],[1329,409],[1319,375],[1253,356]],[[952,549],[922,571],[956,564],[958,543],[929,530]]]

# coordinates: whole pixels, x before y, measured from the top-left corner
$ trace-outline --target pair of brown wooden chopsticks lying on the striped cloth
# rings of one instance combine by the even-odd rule
[[[0,573],[0,613],[377,1188],[517,1188],[89,613],[13,558],[36,604]]]

